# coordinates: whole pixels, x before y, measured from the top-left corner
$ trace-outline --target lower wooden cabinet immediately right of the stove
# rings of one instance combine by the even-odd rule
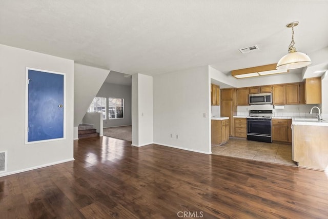
[[[292,142],[292,120],[272,119],[272,141]]]

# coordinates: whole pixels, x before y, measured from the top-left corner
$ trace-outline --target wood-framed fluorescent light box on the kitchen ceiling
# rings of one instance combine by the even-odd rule
[[[263,66],[256,66],[251,68],[243,68],[232,70],[231,75],[237,79],[247,78],[247,77],[258,77],[265,76],[270,74],[280,74],[280,73],[288,73],[289,70],[277,70],[277,63]]]

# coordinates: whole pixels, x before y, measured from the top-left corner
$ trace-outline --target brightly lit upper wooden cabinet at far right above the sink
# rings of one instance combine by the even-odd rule
[[[321,77],[305,79],[305,103],[321,104]]]

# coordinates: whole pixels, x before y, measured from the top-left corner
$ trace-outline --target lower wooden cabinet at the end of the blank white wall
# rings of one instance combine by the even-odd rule
[[[222,145],[229,140],[229,120],[212,120],[212,145]]]

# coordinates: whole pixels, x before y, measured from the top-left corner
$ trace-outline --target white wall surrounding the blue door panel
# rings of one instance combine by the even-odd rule
[[[66,139],[25,145],[25,68],[66,74]],[[0,45],[0,151],[8,151],[2,175],[73,160],[74,63],[72,60]]]

